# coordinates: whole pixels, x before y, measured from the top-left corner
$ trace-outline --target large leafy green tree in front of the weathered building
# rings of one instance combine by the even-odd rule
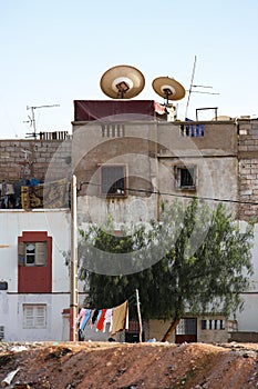
[[[252,275],[254,226],[240,231],[221,203],[214,209],[197,199],[187,207],[163,205],[162,222],[135,227],[122,237],[107,231],[110,226],[81,231],[80,278],[87,285],[91,306],[118,305],[138,289],[144,319],[171,320],[164,341],[186,312],[228,316],[241,308],[240,293]],[[95,271],[96,262],[106,269],[107,253],[114,255],[109,269],[115,263],[116,271]],[[120,255],[125,257],[120,260]]]

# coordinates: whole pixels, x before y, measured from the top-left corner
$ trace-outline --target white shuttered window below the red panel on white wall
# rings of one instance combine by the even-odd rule
[[[23,305],[23,328],[45,328],[47,305]]]

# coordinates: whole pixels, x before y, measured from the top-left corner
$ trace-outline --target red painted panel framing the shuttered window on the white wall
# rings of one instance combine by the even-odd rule
[[[51,293],[52,292],[52,237],[45,231],[24,231],[18,237],[20,242],[47,241],[47,266],[18,265],[19,293]]]

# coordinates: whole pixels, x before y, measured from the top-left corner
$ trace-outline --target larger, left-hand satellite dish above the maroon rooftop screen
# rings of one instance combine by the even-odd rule
[[[112,99],[132,99],[145,86],[144,76],[140,70],[127,64],[109,69],[101,78],[102,91]]]

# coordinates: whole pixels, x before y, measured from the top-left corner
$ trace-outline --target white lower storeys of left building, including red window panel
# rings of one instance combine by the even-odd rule
[[[70,210],[2,209],[0,231],[0,338],[69,340]]]

